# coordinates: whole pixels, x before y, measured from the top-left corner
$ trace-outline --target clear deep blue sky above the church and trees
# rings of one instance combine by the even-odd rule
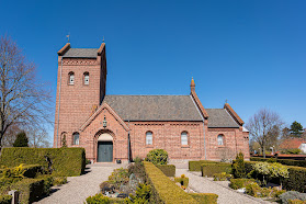
[[[261,107],[306,126],[306,1],[0,1],[8,34],[56,94],[57,50],[99,47],[107,94],[227,99],[246,122]],[[55,105],[54,105],[55,106]]]

